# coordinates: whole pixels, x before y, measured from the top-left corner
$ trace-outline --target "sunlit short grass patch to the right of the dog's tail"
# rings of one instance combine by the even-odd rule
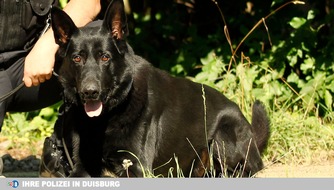
[[[265,159],[285,164],[311,164],[334,159],[334,124],[315,116],[281,109],[271,116]]]

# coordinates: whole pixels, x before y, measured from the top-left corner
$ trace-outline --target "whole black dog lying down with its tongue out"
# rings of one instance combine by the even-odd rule
[[[77,28],[52,9],[52,28],[64,61],[59,79],[67,105],[64,138],[74,160],[71,177],[252,176],[263,163],[269,120],[260,102],[248,123],[220,92],[171,77],[134,54],[122,0],[102,25]],[[176,162],[177,160],[177,162]],[[133,164],[125,166],[125,162]],[[212,168],[211,167],[211,168]],[[239,169],[238,169],[239,168]]]

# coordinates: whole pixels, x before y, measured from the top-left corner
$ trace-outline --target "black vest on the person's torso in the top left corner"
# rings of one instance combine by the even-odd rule
[[[53,1],[0,1],[0,53],[31,48],[45,26]],[[57,0],[54,6],[58,4]]]

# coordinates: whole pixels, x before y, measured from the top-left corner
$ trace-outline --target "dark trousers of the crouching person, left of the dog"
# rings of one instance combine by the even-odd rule
[[[7,94],[20,83],[22,83],[24,59],[27,52],[17,51],[12,56],[7,57],[5,63],[10,63],[10,67],[0,67],[0,96]],[[8,54],[7,54],[8,55]],[[57,64],[57,63],[56,63]],[[0,63],[0,66],[2,63]],[[42,109],[61,100],[62,88],[55,76],[39,86],[23,87],[13,96],[0,102],[0,130],[7,111],[27,112]]]

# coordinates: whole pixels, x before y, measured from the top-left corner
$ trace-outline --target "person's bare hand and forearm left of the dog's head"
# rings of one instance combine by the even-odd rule
[[[50,39],[50,33],[45,33],[25,58],[23,81],[27,87],[37,86],[52,76],[58,46],[53,36]]]

